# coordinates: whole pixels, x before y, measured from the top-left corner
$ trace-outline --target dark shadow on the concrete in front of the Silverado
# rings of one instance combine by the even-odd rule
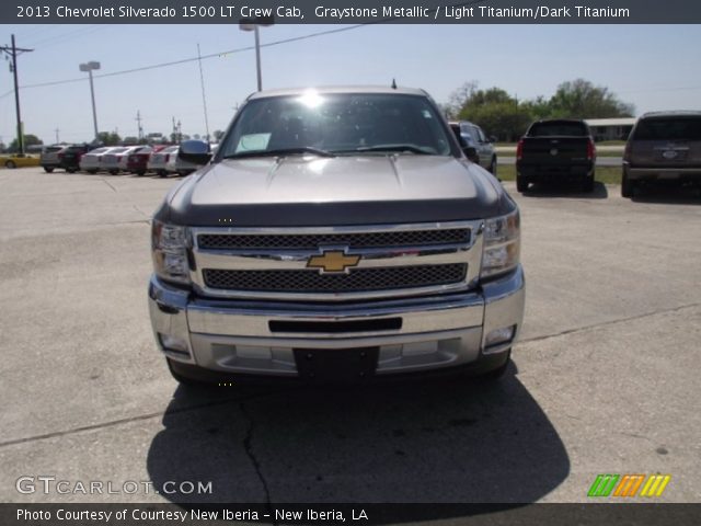
[[[163,495],[184,505],[533,502],[566,478],[570,460],[514,373],[496,382],[179,387],[148,472],[157,489],[211,481],[211,494]]]

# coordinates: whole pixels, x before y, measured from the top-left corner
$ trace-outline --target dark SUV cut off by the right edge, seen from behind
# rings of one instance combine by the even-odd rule
[[[653,181],[701,184],[701,112],[641,116],[623,150],[621,195]]]

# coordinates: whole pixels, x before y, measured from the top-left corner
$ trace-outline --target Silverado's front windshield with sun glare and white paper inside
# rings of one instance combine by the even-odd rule
[[[399,94],[317,94],[249,102],[219,158],[271,155],[451,155],[430,102]]]

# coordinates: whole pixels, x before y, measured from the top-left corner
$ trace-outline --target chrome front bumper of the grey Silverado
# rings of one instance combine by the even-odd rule
[[[290,377],[298,376],[295,348],[379,347],[378,375],[471,364],[510,348],[524,302],[520,266],[476,291],[352,305],[205,300],[154,276],[149,284],[156,341],[168,357],[221,373]],[[372,330],[378,320],[395,323]],[[323,330],[333,322],[354,329]],[[490,332],[508,327],[510,340],[485,347]],[[169,348],[169,341],[181,343]]]

